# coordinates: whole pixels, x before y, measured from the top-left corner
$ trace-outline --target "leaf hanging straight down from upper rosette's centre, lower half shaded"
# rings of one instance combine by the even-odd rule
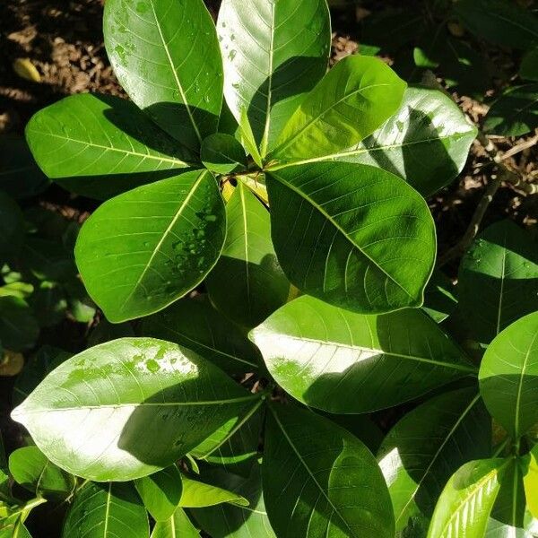
[[[226,204],[226,218],[226,242],[205,283],[213,305],[250,328],[286,302],[290,282],[274,253],[269,213],[241,182]]]

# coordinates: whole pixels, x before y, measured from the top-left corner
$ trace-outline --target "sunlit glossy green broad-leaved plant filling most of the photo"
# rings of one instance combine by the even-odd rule
[[[480,392],[446,315],[421,308],[423,196],[475,135],[456,105],[375,57],[327,72],[325,0],[224,0],[216,30],[201,0],[107,0],[104,30],[132,101],[68,97],[27,137],[50,178],[106,200],[76,263],[108,320],[143,317],[142,335],[60,361],[13,411],[37,447],[4,468],[6,521],[26,532],[33,506],[10,473],[34,504],[74,498],[65,538],[147,537],[148,512],[153,538],[528,529],[536,305],[507,301],[482,332]],[[358,415],[417,398],[376,459]]]

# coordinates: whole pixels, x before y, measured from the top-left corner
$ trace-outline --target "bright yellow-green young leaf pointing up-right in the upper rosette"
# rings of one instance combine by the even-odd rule
[[[343,152],[395,114],[405,87],[379,59],[345,57],[305,97],[267,161],[303,161]]]

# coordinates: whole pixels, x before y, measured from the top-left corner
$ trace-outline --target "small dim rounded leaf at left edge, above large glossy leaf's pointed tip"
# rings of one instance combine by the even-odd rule
[[[0,342],[11,351],[23,351],[33,346],[39,335],[39,325],[24,299],[0,297]]]

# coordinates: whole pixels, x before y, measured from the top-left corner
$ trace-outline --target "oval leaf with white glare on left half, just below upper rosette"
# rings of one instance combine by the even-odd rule
[[[384,409],[475,371],[430,317],[411,308],[363,316],[305,295],[250,337],[284,390],[328,412]]]

